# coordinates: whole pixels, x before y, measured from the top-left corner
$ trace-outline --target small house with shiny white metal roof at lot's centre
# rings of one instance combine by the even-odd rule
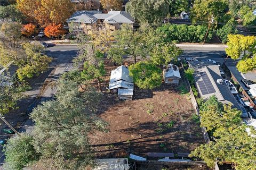
[[[121,65],[111,71],[108,89],[110,92],[117,93],[119,99],[131,100],[133,87],[133,79],[130,77],[126,66]]]

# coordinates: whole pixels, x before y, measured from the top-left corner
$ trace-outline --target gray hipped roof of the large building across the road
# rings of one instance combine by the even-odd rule
[[[134,23],[132,16],[125,11],[76,11],[67,22],[95,23],[97,20],[107,23]]]

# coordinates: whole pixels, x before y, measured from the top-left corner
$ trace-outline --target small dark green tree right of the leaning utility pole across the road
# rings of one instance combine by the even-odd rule
[[[236,29],[235,19],[228,21],[226,25],[217,30],[217,36],[220,37],[223,44],[227,43],[229,34],[236,34],[238,31]]]

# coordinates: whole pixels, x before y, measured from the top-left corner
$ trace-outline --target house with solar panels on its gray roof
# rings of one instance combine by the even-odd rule
[[[209,98],[215,95],[223,104],[231,104],[241,109],[236,98],[228,89],[221,77],[219,65],[212,62],[189,62],[189,66],[195,69],[195,86],[201,98]]]

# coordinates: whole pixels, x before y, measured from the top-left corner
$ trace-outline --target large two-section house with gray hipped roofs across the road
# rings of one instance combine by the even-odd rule
[[[130,24],[133,27],[134,19],[125,11],[76,11],[67,20],[69,28],[75,27],[83,31],[86,35],[91,35],[93,29],[109,29],[115,31],[121,28],[123,23]],[[73,24],[73,25],[71,25]]]

